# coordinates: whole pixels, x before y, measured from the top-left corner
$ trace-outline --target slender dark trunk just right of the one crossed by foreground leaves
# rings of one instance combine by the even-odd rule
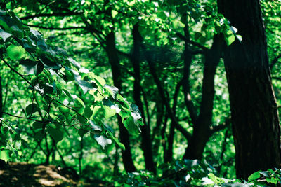
[[[145,158],[145,168],[150,172],[156,173],[155,163],[153,162],[152,155],[152,141],[150,137],[150,127],[146,123],[143,102],[141,101],[141,68],[140,68],[140,52],[141,52],[141,41],[142,37],[140,32],[138,32],[138,24],[133,26],[133,53],[131,57],[131,62],[133,64],[133,75],[135,78],[133,84],[133,99],[141,111],[141,116],[145,125],[141,126],[141,145],[143,149],[143,154]]]

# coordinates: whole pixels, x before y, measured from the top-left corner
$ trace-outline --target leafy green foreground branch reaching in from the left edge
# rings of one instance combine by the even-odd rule
[[[106,85],[103,78],[81,68],[65,50],[48,46],[43,35],[22,25],[15,13],[0,11],[0,14],[1,60],[29,85],[31,92],[31,103],[24,109],[25,117],[5,114],[34,121],[31,127],[34,139],[43,139],[48,133],[56,144],[63,139],[67,127],[74,127],[81,137],[89,133],[104,151],[111,151],[113,142],[124,149],[112,129],[96,116],[110,118],[119,114],[129,132],[138,134],[138,125],[143,122],[137,106],[130,105],[118,89]],[[18,64],[25,73],[15,70]],[[81,89],[81,95],[68,88],[71,83]],[[4,131],[1,159],[7,160],[7,150],[17,153],[9,137],[12,141],[21,141],[21,130],[4,118],[1,123]]]

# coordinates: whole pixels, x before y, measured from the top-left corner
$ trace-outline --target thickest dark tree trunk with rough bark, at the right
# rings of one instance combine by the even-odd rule
[[[230,95],[236,174],[280,167],[280,127],[268,66],[259,0],[218,0],[218,9],[238,29],[224,57]]]

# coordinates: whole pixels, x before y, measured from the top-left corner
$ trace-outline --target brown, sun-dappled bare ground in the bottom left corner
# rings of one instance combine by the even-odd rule
[[[8,162],[0,169],[0,186],[108,186],[108,183],[79,180],[71,168]]]

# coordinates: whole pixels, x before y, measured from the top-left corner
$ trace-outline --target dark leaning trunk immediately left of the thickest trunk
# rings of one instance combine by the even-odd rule
[[[211,125],[214,106],[214,76],[216,74],[216,67],[221,58],[222,44],[223,37],[217,34],[214,36],[211,49],[206,51],[200,113],[196,120],[193,120],[194,127],[192,138],[188,142],[188,148],[186,149],[183,158],[201,159],[204,147],[211,136],[209,127]]]

